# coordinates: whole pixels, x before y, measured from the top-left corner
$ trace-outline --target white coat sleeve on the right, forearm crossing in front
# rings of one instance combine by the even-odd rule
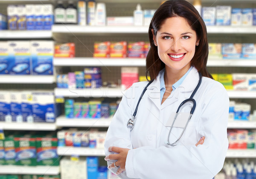
[[[221,84],[217,86],[204,94],[206,102],[197,129],[198,133],[205,136],[204,144],[172,148],[145,146],[129,150],[125,164],[128,177],[212,179],[221,170],[228,148],[229,97]]]

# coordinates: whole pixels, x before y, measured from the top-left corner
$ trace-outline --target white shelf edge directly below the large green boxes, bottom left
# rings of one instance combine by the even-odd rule
[[[1,165],[0,174],[58,175],[59,166]]]

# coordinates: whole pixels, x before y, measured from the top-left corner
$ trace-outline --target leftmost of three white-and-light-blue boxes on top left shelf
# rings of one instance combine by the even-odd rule
[[[35,5],[26,4],[26,29],[35,30]]]

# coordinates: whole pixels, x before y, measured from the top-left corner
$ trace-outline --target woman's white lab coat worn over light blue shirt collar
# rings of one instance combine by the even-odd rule
[[[161,70],[160,73],[164,72]],[[160,74],[150,84],[140,101],[134,129],[127,127],[140,95],[148,82],[134,83],[122,98],[111,121],[105,140],[105,154],[113,154],[108,147],[129,148],[125,170],[120,178],[134,179],[212,179],[223,167],[227,153],[227,121],[229,97],[217,81],[203,77],[195,93],[195,112],[177,143],[166,144],[169,128],[165,124],[180,103],[189,98],[198,84],[197,69],[193,69],[183,83],[161,105]],[[182,109],[190,112],[189,104]],[[183,129],[173,127],[170,142],[176,141]],[[202,136],[203,145],[195,146]],[[108,165],[115,160],[108,161]],[[116,172],[113,168],[112,172]]]

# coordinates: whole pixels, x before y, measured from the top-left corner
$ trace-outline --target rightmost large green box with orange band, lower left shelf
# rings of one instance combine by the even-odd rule
[[[58,166],[60,164],[60,159],[57,154],[57,137],[37,137],[36,147],[37,165]]]

